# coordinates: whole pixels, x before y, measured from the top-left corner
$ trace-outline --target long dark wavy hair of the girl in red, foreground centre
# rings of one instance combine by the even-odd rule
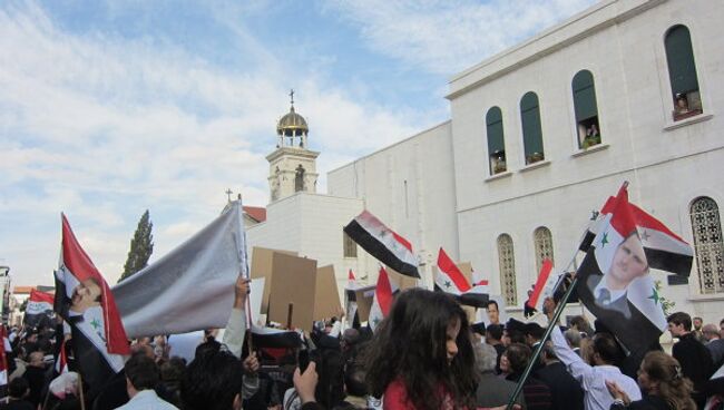
[[[448,360],[448,329],[460,325],[458,352]],[[441,292],[409,289],[401,292],[388,318],[378,326],[366,350],[370,394],[381,397],[393,380],[402,380],[411,404],[439,409],[443,389],[456,407],[473,406],[474,357],[468,318]]]

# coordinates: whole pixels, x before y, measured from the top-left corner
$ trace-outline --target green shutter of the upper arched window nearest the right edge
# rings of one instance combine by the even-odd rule
[[[674,26],[664,40],[674,95],[698,90],[692,38],[685,26]]]

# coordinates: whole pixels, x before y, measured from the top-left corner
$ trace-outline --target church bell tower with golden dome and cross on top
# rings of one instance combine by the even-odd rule
[[[316,157],[320,153],[309,149],[310,128],[304,117],[294,110],[294,90],[290,98],[290,111],[276,124],[276,149],[266,156],[271,202],[300,191],[316,193]]]

